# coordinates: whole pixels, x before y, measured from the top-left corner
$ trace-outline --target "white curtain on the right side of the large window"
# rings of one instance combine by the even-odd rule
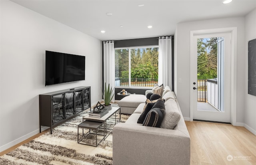
[[[172,37],[159,37],[158,84],[172,89]]]

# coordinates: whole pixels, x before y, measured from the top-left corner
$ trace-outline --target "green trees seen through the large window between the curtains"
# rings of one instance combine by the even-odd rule
[[[158,79],[158,48],[136,48],[131,51],[131,79]],[[116,78],[129,78],[129,50],[115,51]]]

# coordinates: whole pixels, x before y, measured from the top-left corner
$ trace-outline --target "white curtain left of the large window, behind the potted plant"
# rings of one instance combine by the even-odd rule
[[[103,42],[103,64],[104,64],[104,80],[105,85],[110,84],[110,88],[115,87],[115,50],[114,50],[114,41],[104,41]],[[112,99],[112,102],[115,102],[115,96]]]

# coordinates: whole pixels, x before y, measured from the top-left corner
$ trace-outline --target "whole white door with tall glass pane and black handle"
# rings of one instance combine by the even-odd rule
[[[230,122],[231,34],[194,35],[190,78],[194,120]]]

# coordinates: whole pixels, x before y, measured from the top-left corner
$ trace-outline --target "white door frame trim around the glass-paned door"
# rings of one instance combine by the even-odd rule
[[[193,38],[196,35],[202,34],[214,34],[214,33],[225,33],[229,32],[231,34],[231,84],[230,84],[230,123],[232,125],[236,124],[236,73],[237,73],[237,28],[218,28],[218,29],[207,29],[207,30],[194,30],[190,31],[190,66],[194,65],[196,61],[194,56],[193,48]],[[193,77],[192,70],[190,70],[190,121],[193,121]]]

